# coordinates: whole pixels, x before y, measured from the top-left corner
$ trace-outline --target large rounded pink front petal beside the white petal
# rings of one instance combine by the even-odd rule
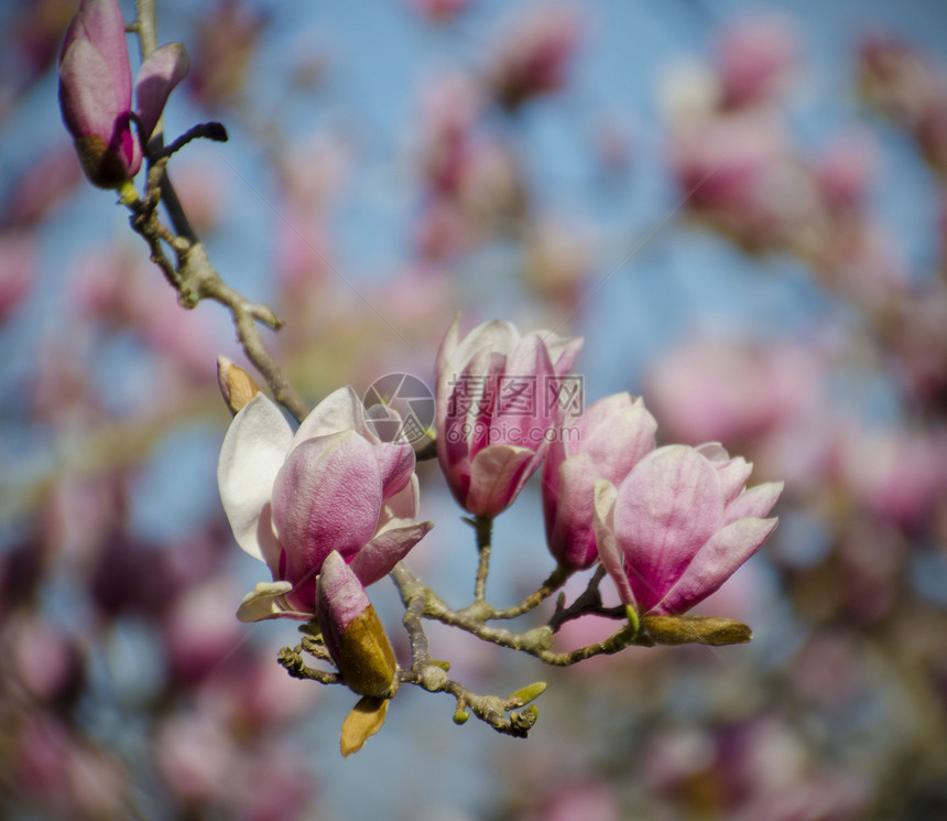
[[[353,431],[293,449],[273,485],[273,523],[285,577],[301,585],[333,550],[348,559],[374,534],[382,504],[372,445]]]

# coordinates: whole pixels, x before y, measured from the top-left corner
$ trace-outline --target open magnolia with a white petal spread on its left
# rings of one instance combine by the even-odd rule
[[[237,543],[273,574],[244,597],[244,622],[311,618],[334,550],[369,585],[433,527],[415,521],[414,451],[382,442],[350,387],[324,399],[295,435],[258,393],[230,423],[217,482]]]

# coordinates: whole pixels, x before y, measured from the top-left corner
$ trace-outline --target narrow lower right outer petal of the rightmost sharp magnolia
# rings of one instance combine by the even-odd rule
[[[684,613],[701,602],[760,549],[775,527],[776,519],[745,518],[718,530],[653,612]]]

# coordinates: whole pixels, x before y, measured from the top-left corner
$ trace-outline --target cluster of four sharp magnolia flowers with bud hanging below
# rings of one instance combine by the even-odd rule
[[[543,467],[547,544],[560,569],[601,562],[630,617],[679,614],[765,541],[776,525],[765,517],[782,484],[747,489],[752,465],[718,444],[657,446],[654,418],[627,393],[567,418],[558,400],[524,408],[522,396],[502,389],[530,380],[555,391],[580,347],[580,338],[522,334],[500,321],[460,338],[455,321],[436,366],[444,477],[468,514],[492,520]],[[364,588],[433,527],[416,520],[413,447],[384,441],[372,417],[351,387],[341,388],[294,433],[280,409],[255,393],[233,418],[218,467],[237,542],[273,579],[244,597],[238,617],[315,615],[344,677],[352,663],[347,633],[377,633],[367,627],[377,616]],[[375,648],[369,656],[384,657],[387,672],[353,689],[380,695],[391,683],[395,662],[383,644],[381,655]]]

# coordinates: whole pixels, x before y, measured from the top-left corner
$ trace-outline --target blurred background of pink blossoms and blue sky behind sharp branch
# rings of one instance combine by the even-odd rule
[[[458,311],[583,335],[588,402],[641,395],[661,444],[755,461],[786,482],[781,523],[698,607],[752,644],[537,670],[434,628],[474,688],[549,681],[531,739],[403,693],[344,761],[347,694],[285,676],[292,627],[233,617],[257,569],[215,480],[232,328],[181,309],[81,179],[54,76],[77,2],[10,0],[0,814],[947,817],[947,7],[157,4],[192,60],[166,132],[231,137],[171,175],[225,279],[287,320],[273,347],[311,404],[431,382]],[[437,527],[410,563],[460,605],[469,533],[436,465],[420,476]],[[551,561],[534,482],[498,522],[491,597]]]

